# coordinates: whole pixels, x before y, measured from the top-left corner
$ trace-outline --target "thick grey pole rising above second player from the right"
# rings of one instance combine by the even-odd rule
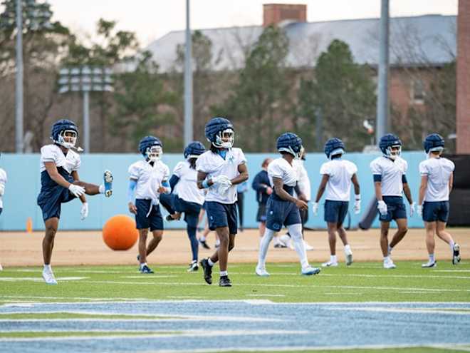
[[[388,132],[388,115],[390,111],[388,99],[388,66],[389,66],[389,2],[382,0],[380,14],[380,51],[378,72],[377,123],[375,129],[376,143]]]

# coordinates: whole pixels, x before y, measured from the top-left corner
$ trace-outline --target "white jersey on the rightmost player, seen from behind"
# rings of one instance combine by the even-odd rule
[[[419,163],[419,174],[427,175],[424,201],[449,201],[449,179],[454,169],[454,162],[442,157],[428,158]]]

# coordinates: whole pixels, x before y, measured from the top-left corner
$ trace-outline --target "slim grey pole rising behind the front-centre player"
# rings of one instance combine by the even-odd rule
[[[189,0],[186,0],[186,45],[184,52],[184,145],[193,140],[192,132],[192,38],[189,26]]]

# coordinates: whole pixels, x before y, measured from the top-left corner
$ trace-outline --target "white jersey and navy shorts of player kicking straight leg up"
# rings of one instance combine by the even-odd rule
[[[80,155],[73,150],[64,154],[58,145],[45,145],[41,148],[41,192],[38,195],[38,206],[43,213],[43,220],[61,218],[61,203],[68,203],[75,198],[67,188],[58,185],[49,176],[45,163],[56,164],[57,171],[69,183],[73,183],[72,172],[80,168]]]

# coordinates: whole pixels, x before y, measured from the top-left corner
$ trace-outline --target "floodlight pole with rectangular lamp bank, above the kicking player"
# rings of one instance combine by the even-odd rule
[[[83,93],[83,148],[90,153],[90,92],[113,91],[110,68],[80,66],[61,68],[59,71],[59,93]]]

